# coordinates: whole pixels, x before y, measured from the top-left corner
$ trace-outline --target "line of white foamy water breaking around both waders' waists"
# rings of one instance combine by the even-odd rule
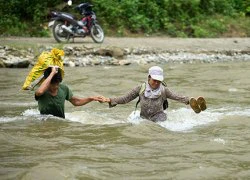
[[[170,130],[170,131],[192,131],[196,127],[207,126],[211,123],[220,121],[227,116],[247,116],[250,117],[250,109],[242,108],[220,108],[220,109],[208,109],[199,114],[194,113],[188,108],[180,108],[167,112],[168,120],[164,122],[157,122],[160,126]],[[128,116],[127,119],[110,117],[107,113],[97,113],[89,111],[75,111],[65,114],[66,121],[78,122],[82,124],[121,124],[121,123],[131,123],[134,125],[140,124],[145,119],[140,117],[140,111],[133,111]],[[0,123],[7,123],[18,120],[25,120],[33,117],[36,120],[47,120],[53,117],[59,120],[64,120],[62,118],[57,118],[52,115],[40,115],[38,109],[27,109],[20,116],[8,117],[1,116]]]

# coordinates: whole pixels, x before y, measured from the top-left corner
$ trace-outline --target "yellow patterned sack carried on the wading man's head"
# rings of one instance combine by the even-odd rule
[[[58,66],[62,71],[62,78],[64,77],[64,67],[62,56],[64,51],[53,48],[50,52],[42,52],[38,57],[38,61],[35,66],[29,72],[26,80],[23,84],[23,90],[31,90],[37,84],[41,83],[43,79],[43,73],[49,66]]]

